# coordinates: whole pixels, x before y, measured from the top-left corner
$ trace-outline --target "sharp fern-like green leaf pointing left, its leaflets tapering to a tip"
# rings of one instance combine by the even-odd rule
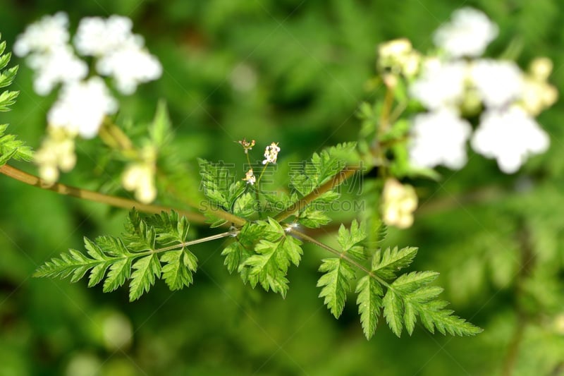
[[[171,290],[192,284],[196,256],[186,248],[188,221],[176,212],[162,212],[142,219],[130,212],[122,238],[85,238],[87,254],[69,250],[39,267],[35,277],[71,277],[79,281],[90,270],[88,286],[104,280],[104,292],[114,291],[130,280],[129,298],[148,292],[155,279],[164,279]],[[107,272],[107,273],[106,273]],[[105,279],[104,279],[105,277]]]

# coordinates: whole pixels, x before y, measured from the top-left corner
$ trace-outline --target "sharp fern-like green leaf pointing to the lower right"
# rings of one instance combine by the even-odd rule
[[[341,225],[338,235],[342,253],[340,257],[323,260],[319,272],[324,274],[317,282],[317,286],[322,288],[319,297],[324,298],[327,308],[338,318],[355,279],[355,269],[360,269],[365,275],[357,281],[355,293],[360,322],[367,339],[374,335],[381,312],[384,312],[388,327],[398,337],[404,327],[407,333],[413,333],[417,316],[431,333],[435,328],[442,334],[448,332],[459,336],[482,332],[482,329],[452,315],[452,310],[444,309],[448,303],[437,299],[443,289],[429,286],[438,273],[409,272],[398,277],[398,272],[408,267],[417,255],[417,248],[377,250],[372,256],[371,267],[367,269],[355,261],[365,258],[362,257],[363,247],[359,244],[367,238],[364,225],[356,221],[350,229]]]

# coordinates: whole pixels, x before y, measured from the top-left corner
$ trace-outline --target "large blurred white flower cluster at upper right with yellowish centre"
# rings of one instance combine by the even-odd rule
[[[476,152],[495,158],[506,174],[548,149],[548,135],[534,116],[558,97],[546,82],[551,63],[538,59],[530,73],[523,73],[513,61],[480,59],[497,34],[497,26],[472,8],[456,11],[451,22],[436,31],[434,42],[443,56],[424,59],[409,87],[410,96],[429,111],[412,121],[409,148],[414,166],[462,168],[469,138]],[[472,135],[462,115],[481,109]]]

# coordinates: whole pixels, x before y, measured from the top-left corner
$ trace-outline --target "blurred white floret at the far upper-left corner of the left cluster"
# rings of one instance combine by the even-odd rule
[[[25,32],[18,35],[13,52],[17,56],[46,52],[67,44],[68,39],[68,17],[66,13],[59,12],[27,26]]]

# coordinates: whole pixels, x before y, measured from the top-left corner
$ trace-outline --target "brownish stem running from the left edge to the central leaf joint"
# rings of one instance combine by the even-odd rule
[[[154,214],[158,214],[160,212],[170,212],[172,210],[171,207],[143,204],[141,202],[137,202],[134,200],[128,200],[127,198],[104,195],[103,193],[98,193],[92,190],[87,190],[82,188],[76,188],[73,186],[67,186],[66,184],[62,184],[62,183],[54,183],[54,184],[46,183],[41,178],[38,178],[37,176],[33,176],[32,174],[27,174],[27,172],[21,171],[20,169],[16,169],[15,167],[8,166],[8,164],[4,164],[4,166],[0,166],[0,174],[4,174],[10,178],[28,184],[30,186],[35,186],[37,188],[41,188],[44,190],[52,190],[53,192],[59,193],[59,195],[66,195],[75,198],[82,198],[84,200],[101,202],[115,207],[123,207],[125,209],[131,209],[132,207],[135,207],[140,212],[147,212]],[[177,211],[178,214],[183,215],[184,217],[186,217],[186,219],[192,222],[204,223],[206,220],[206,218],[200,213],[186,212],[183,210],[177,210]]]

